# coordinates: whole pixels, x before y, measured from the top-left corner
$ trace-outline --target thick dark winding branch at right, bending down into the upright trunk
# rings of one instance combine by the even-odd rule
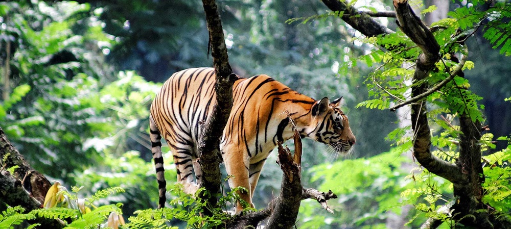
[[[421,83],[429,76],[429,72],[439,59],[440,46],[433,34],[411,10],[406,0],[394,0],[394,9],[399,27],[412,41],[422,49],[423,53],[416,62],[413,74],[412,97],[420,96],[428,91],[428,85]],[[431,132],[427,118],[426,101],[412,104],[412,129],[414,131],[413,156],[428,171],[444,177],[448,181],[459,184],[467,179],[461,169],[431,154]]]

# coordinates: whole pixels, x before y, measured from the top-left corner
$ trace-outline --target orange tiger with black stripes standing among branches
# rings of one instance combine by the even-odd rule
[[[194,194],[200,187],[197,144],[216,103],[215,82],[216,73],[211,67],[178,71],[163,84],[151,104],[149,131],[158,182],[158,208],[165,206],[167,184],[161,137],[172,152],[177,182],[182,184],[184,192]],[[300,137],[347,154],[356,138],[340,109],[341,98],[332,103],[328,97],[317,101],[265,74],[251,78],[237,76],[233,107],[219,145],[229,186],[244,187],[246,190],[238,194],[254,207],[253,193],[268,155],[277,142],[285,142],[294,135],[290,118]],[[243,210],[239,201],[236,205],[237,213]]]

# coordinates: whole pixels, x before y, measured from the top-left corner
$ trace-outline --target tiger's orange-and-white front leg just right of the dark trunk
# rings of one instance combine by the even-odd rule
[[[223,155],[224,156],[224,164],[225,170],[227,174],[231,175],[229,178],[229,186],[231,188],[236,187],[244,187],[246,191],[240,190],[238,194],[241,199],[246,201],[250,207],[254,208],[252,203],[252,194],[251,187],[249,182],[249,172],[248,172],[248,157],[237,157],[240,155]],[[239,214],[243,211],[243,206],[240,202],[237,203],[235,214]]]

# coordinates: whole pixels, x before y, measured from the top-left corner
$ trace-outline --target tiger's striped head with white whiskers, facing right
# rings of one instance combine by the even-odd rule
[[[346,154],[355,144],[356,138],[350,129],[347,116],[340,109],[341,98],[332,103],[328,97],[316,101],[310,110],[310,124],[302,135]]]

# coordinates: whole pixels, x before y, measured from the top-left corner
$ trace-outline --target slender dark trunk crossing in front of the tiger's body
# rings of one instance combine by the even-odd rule
[[[207,192],[202,193],[202,198],[207,199],[208,205],[204,208],[204,214],[210,215],[208,209],[217,207],[217,195],[220,190],[220,150],[218,148],[219,138],[225,128],[227,119],[233,106],[233,83],[236,75],[229,65],[227,48],[218,14],[217,5],[214,0],[203,0],[204,13],[206,15],[206,26],[210,34],[211,55],[213,66],[216,71],[216,104],[213,113],[205,123],[204,131],[201,134],[199,143],[199,163],[201,167],[201,186]]]

